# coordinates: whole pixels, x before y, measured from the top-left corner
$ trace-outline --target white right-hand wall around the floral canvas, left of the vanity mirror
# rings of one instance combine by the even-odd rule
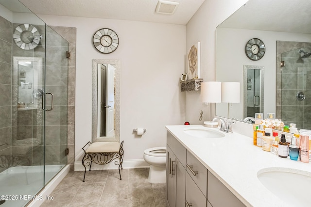
[[[246,1],[205,0],[188,22],[186,48],[201,42],[201,78],[204,81],[216,80],[216,27]],[[204,111],[201,122],[199,121],[200,110]],[[186,120],[190,124],[202,124],[203,121],[209,120],[209,108],[201,103],[199,91],[186,92]]]

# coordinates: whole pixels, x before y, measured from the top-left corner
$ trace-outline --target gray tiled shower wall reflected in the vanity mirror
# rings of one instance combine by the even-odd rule
[[[299,49],[311,52],[311,43],[276,41],[276,118],[285,125],[311,128],[311,56],[301,58]],[[282,58],[283,54],[283,58]],[[281,60],[285,66],[281,67]],[[306,99],[296,94],[303,91]]]

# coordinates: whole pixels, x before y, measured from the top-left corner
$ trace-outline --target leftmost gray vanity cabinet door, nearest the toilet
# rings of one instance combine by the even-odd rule
[[[173,169],[173,164],[175,161],[175,156],[173,151],[167,145],[166,147],[166,198],[169,207],[176,206],[176,168]]]

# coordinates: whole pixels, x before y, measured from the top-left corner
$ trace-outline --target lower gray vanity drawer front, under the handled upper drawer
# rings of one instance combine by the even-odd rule
[[[185,207],[187,207],[187,204],[192,207],[207,207],[206,197],[203,195],[188,173],[186,173]]]

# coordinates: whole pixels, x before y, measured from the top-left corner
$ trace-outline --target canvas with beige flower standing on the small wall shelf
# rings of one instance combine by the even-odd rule
[[[188,50],[187,69],[189,80],[200,79],[200,42]]]

